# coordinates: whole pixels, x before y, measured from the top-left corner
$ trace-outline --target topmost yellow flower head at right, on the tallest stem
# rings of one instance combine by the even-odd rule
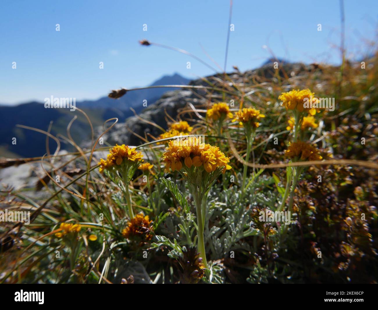
[[[310,89],[303,89],[303,90],[291,90],[290,92],[282,93],[278,99],[282,100],[283,106],[287,110],[297,110],[299,112],[307,111],[311,115],[316,114],[316,109],[314,108],[305,108],[304,103],[307,99],[310,104],[316,104],[318,102],[318,98],[314,97],[314,93],[311,92]],[[312,103],[310,102],[312,98]],[[319,109],[318,109],[319,110]]]

